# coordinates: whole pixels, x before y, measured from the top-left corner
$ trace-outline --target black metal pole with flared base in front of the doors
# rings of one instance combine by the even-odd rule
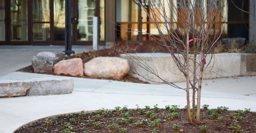
[[[71,0],[65,0],[65,54],[75,53],[71,45]]]

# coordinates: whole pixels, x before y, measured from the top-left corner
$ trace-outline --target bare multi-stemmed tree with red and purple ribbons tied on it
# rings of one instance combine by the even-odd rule
[[[137,1],[140,4],[140,1]],[[216,72],[216,69],[213,70],[213,65],[210,65],[210,63],[214,62],[214,46],[224,29],[225,23],[222,25],[221,20],[223,19],[222,11],[225,7],[224,5],[226,5],[226,1],[162,0],[160,8],[156,8],[157,5],[155,5],[154,1],[155,0],[146,1],[150,13],[141,6],[142,11],[147,13],[150,21],[158,31],[158,34],[147,34],[150,35],[156,43],[168,49],[176,65],[175,69],[178,69],[186,78],[186,88],[181,88],[175,85],[175,83],[161,78],[156,69],[151,68],[146,61],[140,59],[139,55],[127,53],[123,49],[119,49],[118,46],[114,47],[114,49],[124,52],[135,63],[135,68],[147,70],[149,73],[159,78],[162,81],[159,83],[166,83],[175,88],[185,90],[187,94],[188,122],[199,124],[202,80],[204,74]],[[226,20],[224,20],[224,22],[226,22]],[[143,33],[142,31],[130,30]],[[190,47],[190,45],[192,47]],[[137,72],[137,74],[140,75],[139,72]],[[147,75],[140,76],[155,82],[152,77]],[[193,82],[191,82],[190,78],[193,79]],[[196,84],[198,86],[196,86]],[[192,118],[190,114],[190,89],[193,91]],[[196,92],[197,98],[195,98]],[[195,99],[197,100],[196,109]]]

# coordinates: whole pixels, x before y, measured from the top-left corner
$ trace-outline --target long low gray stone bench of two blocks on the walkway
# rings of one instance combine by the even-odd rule
[[[32,78],[30,80],[0,80],[0,97],[68,94],[74,89],[74,80]]]

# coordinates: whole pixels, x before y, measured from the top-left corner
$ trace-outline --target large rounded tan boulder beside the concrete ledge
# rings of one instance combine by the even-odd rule
[[[84,64],[84,73],[94,78],[121,79],[128,71],[128,60],[119,57],[96,57]]]

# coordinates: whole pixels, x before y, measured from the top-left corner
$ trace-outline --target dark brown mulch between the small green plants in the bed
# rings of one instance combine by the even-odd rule
[[[170,132],[176,132],[172,129],[173,124],[179,124],[179,126],[182,126],[180,129],[182,129],[180,132],[182,133],[200,133],[199,126],[206,125],[209,126],[207,129],[208,133],[232,133],[231,123],[236,122],[235,119],[230,118],[230,113],[233,113],[234,111],[223,111],[219,116],[224,117],[224,121],[217,121],[210,118],[210,115],[206,113],[206,110],[201,109],[201,123],[200,124],[190,124],[187,122],[187,113],[186,110],[182,113],[182,109],[177,110],[179,113],[179,116],[182,116],[183,120],[180,118],[176,118],[173,120],[165,120],[165,116],[169,114],[169,110],[161,109],[161,112],[157,113],[156,110],[150,109],[154,112],[154,114],[157,114],[157,119],[161,119],[161,126],[159,127],[159,133],[170,133]],[[147,119],[146,124],[143,127],[134,127],[134,122],[127,122],[125,125],[120,125],[119,128],[126,128],[127,133],[149,133],[150,130],[154,129],[154,127],[150,126],[151,120],[149,119],[146,114],[138,114],[137,110],[134,111],[134,116],[129,115],[130,117],[135,118],[134,122],[137,122],[137,120]],[[148,111],[145,110],[144,112]],[[51,118],[47,119],[41,119],[36,122],[33,122],[31,124],[22,126],[20,129],[18,129],[15,133],[28,133],[28,132],[39,132],[37,127],[44,127],[47,128],[47,130],[40,131],[45,133],[54,133],[54,132],[61,132],[64,130],[60,125],[64,122],[67,122],[70,124],[69,128],[75,128],[76,133],[83,133],[87,130],[91,131],[91,133],[106,133],[110,132],[107,129],[107,126],[109,125],[109,122],[111,120],[116,120],[117,118],[122,118],[123,114],[127,111],[123,111],[122,114],[116,114],[115,112],[111,112],[109,115],[110,117],[103,117],[103,115],[100,115],[100,122],[103,122],[100,126],[100,129],[94,129],[91,125],[87,124],[87,120],[94,120],[93,116],[95,116],[95,113],[90,113],[85,116],[85,118],[80,118],[79,114],[75,114],[75,124],[71,125],[70,120],[67,118],[67,115],[61,115],[58,116],[57,122],[53,122],[51,126],[44,126],[45,121],[51,120]],[[255,133],[255,127],[256,125],[256,113],[253,112],[247,112],[244,114],[244,120],[242,122],[237,122],[241,126],[241,129],[243,129],[243,133]],[[117,122],[116,122],[117,123]],[[119,131],[116,131],[117,133]]]

